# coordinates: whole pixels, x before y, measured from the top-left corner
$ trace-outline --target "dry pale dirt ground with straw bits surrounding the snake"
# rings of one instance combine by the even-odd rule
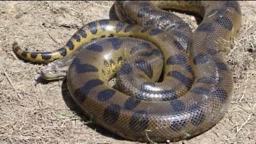
[[[14,40],[31,51],[59,49],[82,25],[108,19],[113,3],[0,2],[0,143],[138,143],[78,115],[65,82],[38,83],[45,65],[24,62],[12,51]],[[235,82],[229,113],[211,130],[177,143],[256,143],[256,2],[240,3],[243,26],[227,58]]]

